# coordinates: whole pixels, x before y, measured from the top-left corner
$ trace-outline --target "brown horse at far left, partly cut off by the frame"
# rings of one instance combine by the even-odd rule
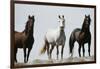
[[[15,43],[14,43],[14,61],[17,62],[16,54],[18,48],[23,48],[24,51],[24,63],[28,62],[29,54],[34,43],[33,37],[33,27],[34,27],[34,16],[28,16],[28,21],[26,22],[25,29],[22,32],[15,31]],[[26,54],[26,49],[28,48],[28,53]]]

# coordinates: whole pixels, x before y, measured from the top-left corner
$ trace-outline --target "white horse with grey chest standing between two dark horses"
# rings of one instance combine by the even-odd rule
[[[57,59],[58,59],[58,54],[59,54],[59,50],[58,47],[62,46],[61,48],[61,59],[63,59],[63,49],[64,49],[64,45],[65,45],[65,41],[66,41],[66,36],[65,36],[65,32],[64,32],[64,28],[65,28],[65,18],[64,15],[59,15],[58,18],[59,23],[60,23],[60,27],[57,29],[51,29],[48,30],[46,32],[45,38],[44,38],[44,46],[41,49],[41,54],[45,53],[45,51],[47,50],[47,55],[48,58],[51,59],[52,57],[52,50],[54,49],[54,47],[56,46],[57,48]],[[50,48],[51,46],[51,48]]]

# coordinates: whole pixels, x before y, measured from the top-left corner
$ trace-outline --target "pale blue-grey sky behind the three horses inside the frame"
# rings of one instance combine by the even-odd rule
[[[69,38],[71,32],[75,28],[81,28],[84,17],[90,15],[91,25],[90,32],[91,39],[91,55],[94,55],[94,9],[81,7],[60,7],[47,5],[29,5],[29,4],[15,4],[15,30],[22,32],[25,29],[28,16],[35,16],[34,23],[34,39],[33,48],[29,56],[29,62],[35,59],[48,59],[47,53],[40,55],[40,50],[44,44],[44,37],[49,29],[56,29],[59,27],[58,15],[65,17],[65,35],[66,43],[64,47],[64,58],[69,57]],[[59,47],[59,58],[61,55],[61,47]],[[88,45],[85,44],[85,55],[88,56]],[[18,49],[17,60],[23,62],[23,49]],[[73,57],[78,56],[78,43],[75,43]],[[56,48],[52,52],[52,58],[56,59]]]

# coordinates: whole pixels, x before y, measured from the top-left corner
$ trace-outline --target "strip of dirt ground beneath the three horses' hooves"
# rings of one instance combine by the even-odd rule
[[[69,57],[63,60],[41,60],[35,59],[30,63],[15,63],[15,66],[24,66],[24,65],[40,65],[40,64],[55,64],[55,63],[73,63],[73,62],[86,62],[86,61],[94,61],[94,56],[91,57]]]

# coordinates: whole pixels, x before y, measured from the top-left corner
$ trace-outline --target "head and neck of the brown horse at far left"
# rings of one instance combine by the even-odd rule
[[[29,32],[33,32],[33,26],[34,26],[34,21],[35,21],[35,18],[34,16],[28,16],[28,21],[27,21],[27,24],[26,24],[26,33],[29,33]]]

